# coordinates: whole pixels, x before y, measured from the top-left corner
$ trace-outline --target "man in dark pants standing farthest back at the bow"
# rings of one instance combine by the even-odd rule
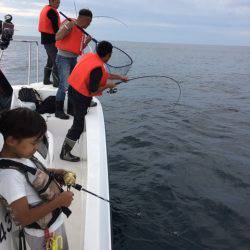
[[[58,87],[59,78],[56,66],[57,48],[55,46],[55,34],[60,27],[60,16],[57,11],[60,5],[60,0],[49,0],[49,5],[46,5],[39,18],[38,30],[41,32],[41,44],[44,45],[48,59],[44,68],[43,84],[52,84],[50,75],[52,72],[53,86]]]

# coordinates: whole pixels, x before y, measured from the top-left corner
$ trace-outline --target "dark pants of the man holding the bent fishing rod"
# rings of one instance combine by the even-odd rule
[[[73,107],[74,121],[66,137],[73,141],[77,141],[84,130],[85,115],[88,112],[92,97],[81,95],[71,86],[69,87],[68,95],[69,101]]]

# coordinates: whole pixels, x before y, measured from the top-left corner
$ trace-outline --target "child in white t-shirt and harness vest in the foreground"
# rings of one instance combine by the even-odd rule
[[[36,190],[41,190],[41,183],[52,176],[51,173],[58,180],[62,180],[67,173],[62,169],[46,170],[33,157],[46,131],[42,116],[26,108],[5,111],[0,116],[0,133],[4,138],[0,152],[0,196],[7,201],[13,220],[24,228],[26,242],[31,250],[45,249],[52,239],[51,233],[53,237],[62,239],[63,250],[67,250],[61,208],[70,206],[73,193],[63,191],[54,179],[47,190],[40,194]],[[10,160],[15,164],[3,168],[1,162],[8,163]],[[25,176],[19,171],[18,164],[28,167],[31,172],[35,170],[36,174],[28,172]]]

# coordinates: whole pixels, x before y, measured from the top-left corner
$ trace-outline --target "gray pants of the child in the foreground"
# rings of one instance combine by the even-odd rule
[[[65,232],[64,224],[60,226],[55,232],[55,236],[62,236],[63,239],[63,250],[69,250],[67,235]],[[35,237],[25,233],[25,239],[31,250],[44,250],[45,239],[44,237]],[[58,248],[60,249],[60,248]]]

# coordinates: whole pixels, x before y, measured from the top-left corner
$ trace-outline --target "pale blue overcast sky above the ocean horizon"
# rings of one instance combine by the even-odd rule
[[[39,36],[39,12],[45,0],[0,0],[0,19],[13,15],[17,35]],[[97,39],[194,44],[250,45],[250,0],[75,0],[94,18],[88,28]],[[75,17],[73,0],[59,8]]]

